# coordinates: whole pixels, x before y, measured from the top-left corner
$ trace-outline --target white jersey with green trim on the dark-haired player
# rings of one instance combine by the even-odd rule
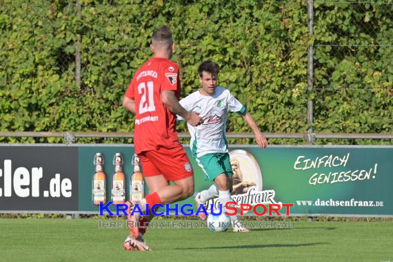
[[[228,141],[225,137],[228,114],[244,114],[244,105],[234,98],[228,89],[220,87],[216,88],[212,96],[205,96],[199,91],[193,92],[181,99],[180,104],[188,111],[199,113],[202,118],[201,125],[187,124],[191,135],[192,156],[197,158],[204,154],[228,152]]]

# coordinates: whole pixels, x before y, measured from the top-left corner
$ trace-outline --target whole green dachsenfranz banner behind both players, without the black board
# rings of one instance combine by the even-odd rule
[[[211,185],[190,157],[195,192]],[[79,146],[79,211],[99,212],[92,203],[94,156],[103,154],[106,197],[110,201],[114,155],[123,155],[125,196],[129,199],[134,148],[129,146]],[[254,146],[232,145],[234,171],[232,199],[238,203],[293,203],[290,215],[393,216],[393,148],[338,146]],[[145,186],[145,192],[147,188]],[[216,206],[218,199],[206,203]],[[192,197],[179,204],[194,204]],[[115,210],[114,206],[110,208]],[[248,213],[252,214],[252,213]]]

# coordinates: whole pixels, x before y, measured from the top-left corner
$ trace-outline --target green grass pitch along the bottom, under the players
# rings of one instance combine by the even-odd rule
[[[124,221],[0,219],[0,261],[393,261],[392,221],[291,221],[250,233],[150,228],[154,251],[130,252],[128,230],[99,220]]]

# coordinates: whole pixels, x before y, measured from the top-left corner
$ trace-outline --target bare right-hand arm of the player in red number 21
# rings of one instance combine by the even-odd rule
[[[185,110],[179,101],[177,100],[174,91],[164,90],[161,92],[161,101],[163,104],[170,110],[170,112],[174,114],[178,114],[180,117],[183,117],[190,125],[199,125],[201,123],[201,117],[194,112],[188,112]]]

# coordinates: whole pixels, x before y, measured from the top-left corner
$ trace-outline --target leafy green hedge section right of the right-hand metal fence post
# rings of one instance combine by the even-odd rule
[[[383,2],[316,1],[318,132],[393,132],[393,5]]]

